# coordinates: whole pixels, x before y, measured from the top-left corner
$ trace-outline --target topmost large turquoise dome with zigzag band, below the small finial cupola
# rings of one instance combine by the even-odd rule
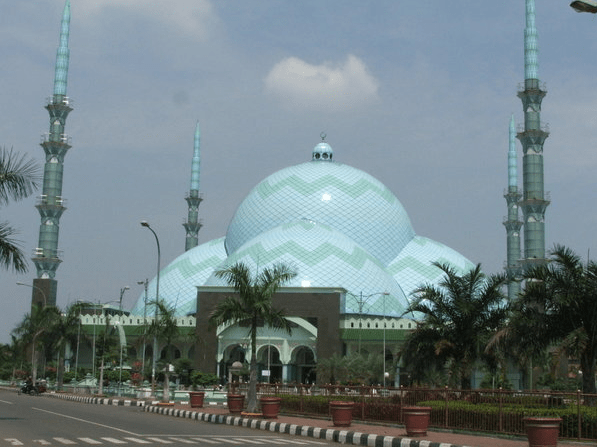
[[[270,175],[249,193],[228,226],[226,251],[296,219],[329,225],[384,265],[415,235],[402,204],[381,182],[348,165],[310,161]]]

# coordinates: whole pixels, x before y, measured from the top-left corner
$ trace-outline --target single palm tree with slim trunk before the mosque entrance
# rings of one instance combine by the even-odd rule
[[[275,264],[252,277],[249,267],[238,262],[216,276],[225,279],[238,293],[228,296],[218,303],[210,315],[212,326],[227,323],[246,323],[251,338],[251,363],[249,366],[249,392],[247,410],[257,410],[257,330],[262,324],[279,327],[291,333],[290,322],[283,316],[282,310],[272,307],[272,298],[276,291],[297,275],[296,271],[285,264]]]

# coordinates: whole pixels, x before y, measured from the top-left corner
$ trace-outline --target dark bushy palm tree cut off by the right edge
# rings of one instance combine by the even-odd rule
[[[578,358],[583,391],[595,393],[597,359],[597,263],[556,245],[549,262],[524,274],[525,285],[512,303],[512,316],[502,342],[520,357],[533,358],[555,348]]]

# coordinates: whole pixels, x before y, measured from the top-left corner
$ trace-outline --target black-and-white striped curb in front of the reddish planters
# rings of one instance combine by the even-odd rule
[[[308,436],[315,439],[339,442],[341,444],[365,445],[371,447],[465,447],[443,442],[431,442],[394,436],[373,435],[347,430],[334,430],[308,425],[288,424],[284,422],[266,421],[241,416],[226,416],[222,414],[201,413],[198,411],[164,408],[147,405],[145,412],[157,413],[165,416],[174,416],[191,420],[210,422],[212,424],[226,424],[239,427],[254,428],[258,430],[283,433],[295,436]]]

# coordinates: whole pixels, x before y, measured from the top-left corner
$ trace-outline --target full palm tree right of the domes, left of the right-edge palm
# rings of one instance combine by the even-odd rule
[[[414,292],[404,314],[418,312],[423,320],[409,335],[401,351],[414,377],[447,367],[463,389],[471,387],[478,361],[495,369],[496,358],[485,351],[507,316],[503,275],[487,276],[481,264],[460,276],[449,264],[433,263],[445,276],[437,285]]]

